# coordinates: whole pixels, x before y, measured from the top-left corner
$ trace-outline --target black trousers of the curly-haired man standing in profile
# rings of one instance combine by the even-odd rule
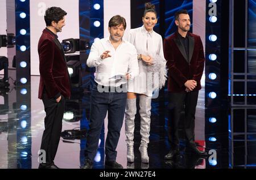
[[[65,109],[65,98],[57,102],[55,98],[47,99],[46,93],[43,94],[44,111],[44,132],[41,148],[46,151],[46,164],[51,164],[55,158],[57,148],[60,142],[62,119]]]

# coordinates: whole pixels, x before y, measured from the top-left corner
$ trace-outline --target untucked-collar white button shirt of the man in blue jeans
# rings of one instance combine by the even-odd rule
[[[115,49],[109,38],[102,38],[93,43],[86,64],[96,67],[95,81],[98,84],[117,87],[127,82],[117,80],[119,76],[125,76],[129,72],[131,78],[134,78],[139,74],[137,50],[125,40]],[[109,55],[112,57],[101,59],[101,54],[106,50],[110,51]]]

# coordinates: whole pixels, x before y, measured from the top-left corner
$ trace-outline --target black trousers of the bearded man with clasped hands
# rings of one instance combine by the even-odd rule
[[[168,138],[171,149],[179,149],[179,120],[180,113],[185,109],[184,125],[185,139],[188,145],[195,143],[195,114],[199,91],[169,93]]]

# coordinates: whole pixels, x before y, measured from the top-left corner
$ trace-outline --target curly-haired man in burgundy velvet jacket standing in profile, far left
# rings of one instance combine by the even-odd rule
[[[53,160],[60,141],[62,119],[65,108],[65,98],[71,96],[68,68],[64,51],[57,39],[65,25],[67,12],[59,7],[46,10],[44,20],[46,29],[38,42],[39,54],[39,98],[43,100],[46,117],[43,132],[41,152],[46,152],[46,161],[40,162],[39,168],[57,169]],[[40,152],[40,153],[41,153]]]

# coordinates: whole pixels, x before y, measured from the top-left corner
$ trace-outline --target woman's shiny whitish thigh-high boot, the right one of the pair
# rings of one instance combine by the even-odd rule
[[[148,137],[150,136],[150,115],[151,115],[151,97],[139,96],[139,114],[141,115],[141,161],[148,163],[149,157],[147,155]]]

